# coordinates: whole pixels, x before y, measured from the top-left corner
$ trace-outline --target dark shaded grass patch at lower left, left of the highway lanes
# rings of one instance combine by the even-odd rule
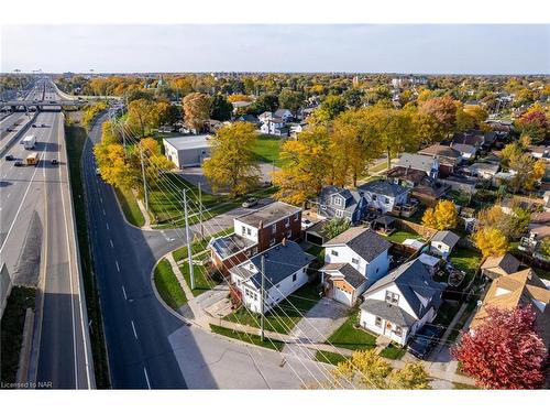
[[[19,356],[23,344],[23,326],[26,308],[34,311],[36,290],[14,286],[6,305],[0,324],[0,366],[1,380],[14,383],[18,374]]]

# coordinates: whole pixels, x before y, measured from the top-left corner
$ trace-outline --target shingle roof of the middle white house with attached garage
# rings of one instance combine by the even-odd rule
[[[373,261],[392,246],[372,229],[352,227],[327,241],[323,247],[345,244],[361,256],[366,262]]]

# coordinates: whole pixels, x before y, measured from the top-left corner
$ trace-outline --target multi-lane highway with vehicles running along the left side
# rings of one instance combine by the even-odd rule
[[[54,99],[48,81],[36,93]],[[45,87],[44,87],[45,86]],[[12,115],[16,117],[18,115]],[[37,284],[38,301],[29,381],[58,389],[95,385],[87,334],[84,287],[73,217],[63,115],[40,112],[25,134],[36,137],[35,148],[14,142],[2,159],[0,260],[14,283]],[[31,152],[35,166],[25,166]],[[52,160],[57,164],[53,164]],[[15,166],[21,161],[22,166]]]

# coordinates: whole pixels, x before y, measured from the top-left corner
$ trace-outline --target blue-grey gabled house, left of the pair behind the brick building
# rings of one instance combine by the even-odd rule
[[[322,218],[345,218],[351,224],[360,222],[366,214],[366,199],[362,192],[324,186],[316,200],[317,215]]]

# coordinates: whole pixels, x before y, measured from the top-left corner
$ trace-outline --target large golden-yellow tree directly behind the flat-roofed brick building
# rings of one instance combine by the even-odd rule
[[[330,182],[330,137],[327,128],[312,126],[299,133],[296,140],[285,141],[280,157],[287,161],[274,174],[279,187],[276,197],[294,205],[305,205],[316,196],[323,183]]]

